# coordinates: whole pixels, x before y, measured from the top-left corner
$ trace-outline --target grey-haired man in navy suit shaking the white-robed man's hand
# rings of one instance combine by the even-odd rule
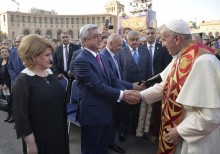
[[[113,102],[121,99],[130,103],[139,100],[112,74],[108,60],[98,54],[101,37],[98,27],[84,25],[80,29],[84,50],[75,59],[75,75],[79,92],[79,123],[81,153],[107,154],[113,127]],[[120,89],[120,90],[119,90]]]

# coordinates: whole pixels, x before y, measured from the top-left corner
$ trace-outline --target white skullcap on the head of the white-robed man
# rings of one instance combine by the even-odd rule
[[[179,34],[191,34],[188,24],[182,19],[171,20],[165,26],[169,30]]]

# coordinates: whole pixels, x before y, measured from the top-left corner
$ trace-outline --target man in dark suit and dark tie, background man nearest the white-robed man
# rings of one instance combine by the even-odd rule
[[[165,47],[162,47],[161,44],[156,42],[156,29],[153,27],[148,27],[145,31],[147,39],[147,49],[149,55],[151,56],[151,67],[152,74],[151,76],[161,73],[167,65],[171,62],[172,56],[169,55],[169,52]],[[149,130],[151,132],[152,141],[157,142],[159,137],[159,129],[161,122],[161,104],[159,101],[157,103],[148,105],[147,116],[151,117],[150,123],[148,123]]]

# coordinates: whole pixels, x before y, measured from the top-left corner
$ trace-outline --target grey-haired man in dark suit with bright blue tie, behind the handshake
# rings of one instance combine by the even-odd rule
[[[150,56],[147,49],[139,46],[140,35],[138,32],[131,31],[127,34],[128,46],[124,47],[119,53],[119,61],[122,67],[123,77],[127,82],[139,82],[147,80],[151,75]],[[120,134],[119,140],[125,140],[129,124],[132,125],[132,132],[136,132],[139,117],[140,104],[129,105],[123,103],[120,110]],[[132,114],[130,122],[129,115]]]

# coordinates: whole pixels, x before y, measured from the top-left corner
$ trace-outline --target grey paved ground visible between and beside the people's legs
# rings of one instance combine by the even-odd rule
[[[14,123],[4,122],[6,113],[0,111],[0,154],[22,154],[21,140],[17,140]],[[80,127],[71,125],[70,129],[70,154],[80,154]],[[126,154],[156,154],[157,145],[149,140],[126,136],[126,141],[121,143],[116,140],[116,144],[122,147]],[[109,154],[117,154],[109,151]]]

